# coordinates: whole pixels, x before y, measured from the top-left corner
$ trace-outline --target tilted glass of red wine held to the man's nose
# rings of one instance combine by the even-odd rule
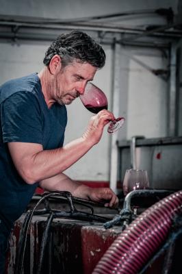
[[[98,113],[99,111],[105,109],[107,110],[108,101],[105,93],[95,86],[94,84],[88,82],[86,85],[85,91],[83,95],[79,96],[83,105],[93,113]],[[109,127],[107,128],[107,132],[113,133],[116,132],[120,127],[122,127],[125,122],[125,118],[118,117],[114,121],[111,121]]]

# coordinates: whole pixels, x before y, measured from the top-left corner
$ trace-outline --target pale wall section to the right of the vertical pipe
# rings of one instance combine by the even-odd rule
[[[166,136],[168,85],[152,70],[167,69],[168,60],[155,49],[124,48],[121,67],[123,86],[120,95],[127,93],[126,138],[134,135],[146,138]]]

